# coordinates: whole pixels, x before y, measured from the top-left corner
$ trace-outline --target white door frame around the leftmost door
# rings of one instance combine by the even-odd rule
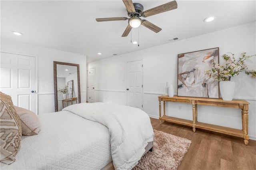
[[[35,58],[35,114],[38,115],[38,55],[34,54],[27,54],[27,53],[20,53],[15,51],[8,51],[8,50],[0,50],[1,53],[9,53],[9,54],[16,54],[16,55],[24,55],[28,57]]]

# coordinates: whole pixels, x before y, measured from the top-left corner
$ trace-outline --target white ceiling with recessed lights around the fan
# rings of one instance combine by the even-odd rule
[[[170,2],[133,0],[148,10]],[[40,45],[87,56],[87,62],[113,54],[124,54],[148,47],[255,22],[256,1],[184,1],[176,10],[146,19],[162,31],[155,33],[139,27],[140,46],[130,42],[130,34],[121,37],[128,20],[96,22],[95,18],[128,17],[122,0],[80,1],[2,1],[1,38]],[[216,16],[210,23],[208,16]],[[15,36],[12,31],[22,32]],[[177,40],[176,40],[177,41]],[[209,40],[210,41],[210,40]],[[101,52],[102,55],[97,53]]]

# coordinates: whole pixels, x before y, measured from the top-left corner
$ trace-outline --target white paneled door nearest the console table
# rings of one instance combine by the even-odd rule
[[[128,106],[142,109],[142,60],[127,62],[126,102]]]

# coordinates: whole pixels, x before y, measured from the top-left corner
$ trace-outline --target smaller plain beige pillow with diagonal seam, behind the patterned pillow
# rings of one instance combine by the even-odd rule
[[[27,136],[38,134],[40,123],[36,114],[22,107],[14,106],[14,108],[20,117],[22,134]]]

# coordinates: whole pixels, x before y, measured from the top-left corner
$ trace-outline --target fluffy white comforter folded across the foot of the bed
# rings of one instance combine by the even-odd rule
[[[80,103],[63,110],[108,127],[112,160],[118,170],[132,169],[145,152],[145,146],[154,138],[148,115],[134,107]]]

